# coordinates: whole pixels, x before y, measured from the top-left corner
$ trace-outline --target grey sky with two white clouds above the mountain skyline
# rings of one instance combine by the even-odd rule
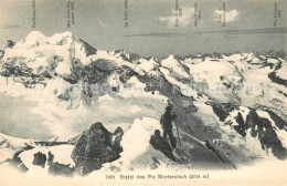
[[[71,28],[67,2],[35,0],[33,8],[32,0],[0,0],[0,43],[38,30],[47,37],[71,31],[96,49],[126,49],[141,56],[287,52],[287,0],[70,0]],[[181,16],[174,11],[177,2]]]

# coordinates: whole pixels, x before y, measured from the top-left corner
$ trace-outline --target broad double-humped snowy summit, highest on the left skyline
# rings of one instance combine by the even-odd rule
[[[70,75],[73,68],[95,61],[97,50],[72,32],[46,37],[32,31],[23,41],[3,48],[2,62],[26,65],[34,74]],[[72,71],[71,71],[72,70]]]

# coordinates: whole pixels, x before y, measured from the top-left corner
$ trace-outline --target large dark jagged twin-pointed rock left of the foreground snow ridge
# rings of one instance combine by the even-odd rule
[[[76,173],[86,175],[99,169],[102,164],[119,158],[119,153],[123,151],[120,147],[123,134],[120,127],[110,133],[102,123],[93,124],[82,134],[72,153]]]

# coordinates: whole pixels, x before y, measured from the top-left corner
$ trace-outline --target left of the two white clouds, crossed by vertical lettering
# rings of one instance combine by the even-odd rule
[[[174,27],[177,21],[177,12],[171,10],[172,16],[170,17],[159,17],[157,20],[166,22],[169,27]],[[187,27],[192,22],[192,17],[194,14],[193,7],[187,7],[182,9],[182,17],[178,17],[178,24],[180,27]]]

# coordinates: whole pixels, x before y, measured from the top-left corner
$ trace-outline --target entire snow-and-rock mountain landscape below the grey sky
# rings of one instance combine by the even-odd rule
[[[42,123],[12,117],[13,108],[1,105],[11,113],[0,118],[1,166],[73,176],[285,161],[286,60],[280,51],[145,59],[95,49],[71,32],[49,38],[33,31],[23,41],[8,40],[0,51],[0,96],[35,103],[26,110]],[[177,115],[174,149],[161,137],[167,105]],[[15,125],[9,134],[2,130],[7,120],[29,128]],[[24,135],[42,126],[47,130]]]

